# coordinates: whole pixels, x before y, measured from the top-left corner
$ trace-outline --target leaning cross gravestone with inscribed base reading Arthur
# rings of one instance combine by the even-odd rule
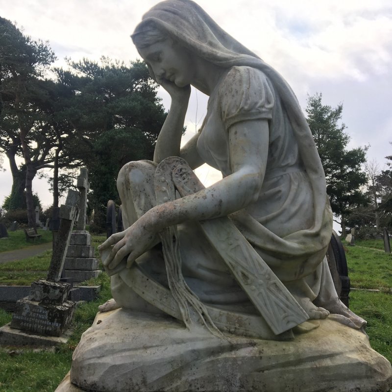
[[[60,207],[60,226],[53,246],[47,279],[33,282],[30,294],[16,303],[10,327],[29,333],[60,337],[69,327],[75,302],[68,301],[70,284],[60,282],[73,223],[77,218],[79,192],[70,190],[65,205]],[[29,339],[0,333],[3,344],[25,345]],[[4,342],[5,341],[5,342]]]

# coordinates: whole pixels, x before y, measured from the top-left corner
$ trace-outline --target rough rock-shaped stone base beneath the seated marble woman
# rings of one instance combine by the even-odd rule
[[[98,313],[56,392],[390,391],[391,364],[368,336],[330,316],[277,342],[188,331],[175,319]]]

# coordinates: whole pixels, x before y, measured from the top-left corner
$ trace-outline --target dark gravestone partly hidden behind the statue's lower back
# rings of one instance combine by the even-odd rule
[[[348,277],[347,260],[342,242],[335,231],[332,232],[331,241],[328,246],[327,260],[336,292],[340,300],[348,307],[350,278]]]

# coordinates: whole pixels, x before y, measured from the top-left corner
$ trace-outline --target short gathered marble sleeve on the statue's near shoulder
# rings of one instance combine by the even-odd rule
[[[222,121],[231,125],[272,118],[274,94],[266,75],[250,67],[232,67],[218,91]]]

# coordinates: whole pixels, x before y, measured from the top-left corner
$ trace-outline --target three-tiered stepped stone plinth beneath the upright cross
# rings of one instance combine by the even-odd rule
[[[73,231],[67,249],[63,276],[72,278],[73,282],[96,278],[101,270],[98,270],[98,259],[94,256],[95,247],[91,246],[90,233],[86,230]]]

